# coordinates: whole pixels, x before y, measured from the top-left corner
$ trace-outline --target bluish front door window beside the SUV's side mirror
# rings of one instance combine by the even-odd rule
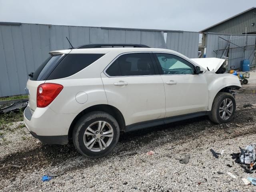
[[[194,66],[172,54],[156,53],[163,74],[194,74]]]

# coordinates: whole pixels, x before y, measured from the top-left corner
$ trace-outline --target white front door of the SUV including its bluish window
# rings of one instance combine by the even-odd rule
[[[166,94],[166,117],[206,111],[208,84],[204,74],[180,56],[154,53]]]

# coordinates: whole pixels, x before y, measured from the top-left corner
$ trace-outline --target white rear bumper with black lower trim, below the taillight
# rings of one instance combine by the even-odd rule
[[[24,123],[28,131],[46,144],[67,144],[68,130],[76,114],[56,114],[49,107],[36,108],[33,112],[28,106],[24,110]]]

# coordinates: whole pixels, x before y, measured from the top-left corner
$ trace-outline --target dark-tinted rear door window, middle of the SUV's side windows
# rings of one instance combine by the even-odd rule
[[[154,75],[154,66],[149,53],[132,53],[118,57],[106,70],[109,76]]]

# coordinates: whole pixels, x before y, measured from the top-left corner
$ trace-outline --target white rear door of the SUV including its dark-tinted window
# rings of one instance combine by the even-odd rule
[[[108,104],[122,112],[126,125],[164,117],[164,84],[152,53],[122,54],[101,76]]]

